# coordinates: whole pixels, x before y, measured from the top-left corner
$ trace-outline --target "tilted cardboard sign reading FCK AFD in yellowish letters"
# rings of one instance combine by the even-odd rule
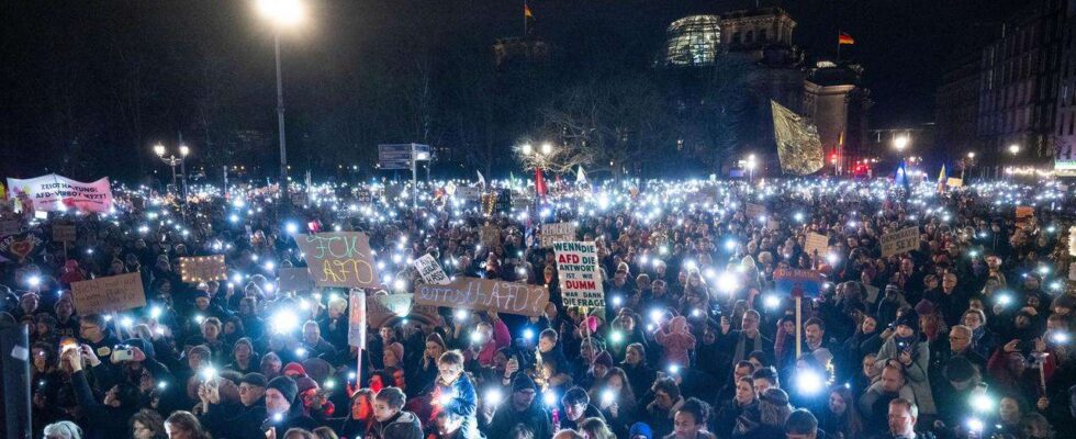
[[[360,232],[299,235],[311,278],[317,286],[376,288],[370,237]]]

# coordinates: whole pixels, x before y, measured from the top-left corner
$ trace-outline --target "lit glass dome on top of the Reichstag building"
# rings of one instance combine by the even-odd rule
[[[721,43],[720,16],[691,15],[665,32],[666,66],[711,66]]]

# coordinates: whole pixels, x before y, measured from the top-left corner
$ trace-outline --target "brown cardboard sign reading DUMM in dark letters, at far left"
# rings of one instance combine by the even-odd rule
[[[80,316],[107,314],[146,306],[138,272],[71,283],[75,311]]]

